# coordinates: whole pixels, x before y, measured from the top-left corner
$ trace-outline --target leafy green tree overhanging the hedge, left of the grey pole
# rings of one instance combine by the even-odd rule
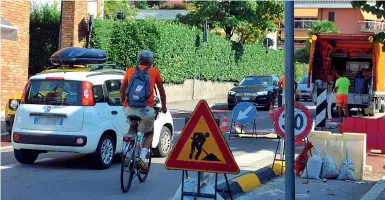
[[[275,28],[274,19],[282,19],[283,1],[194,1],[192,11],[178,16],[182,23],[201,26],[207,20],[211,28],[222,28],[226,38],[236,33],[244,43],[258,38],[267,28]]]

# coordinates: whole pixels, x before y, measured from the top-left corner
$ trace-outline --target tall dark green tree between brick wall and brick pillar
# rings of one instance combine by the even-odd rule
[[[32,2],[29,27],[28,74],[34,75],[50,65],[50,56],[58,50],[60,11],[53,5]]]

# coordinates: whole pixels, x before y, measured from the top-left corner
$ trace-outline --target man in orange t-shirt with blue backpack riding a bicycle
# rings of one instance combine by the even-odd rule
[[[126,117],[135,115],[141,118],[138,132],[144,133],[143,146],[140,151],[139,164],[141,172],[147,172],[144,162],[151,148],[153,127],[155,121],[154,89],[158,87],[162,102],[161,111],[167,112],[166,93],[163,87],[162,77],[158,69],[153,68],[154,54],[143,50],[138,54],[139,66],[129,68],[120,87],[120,96],[123,100],[123,111]]]

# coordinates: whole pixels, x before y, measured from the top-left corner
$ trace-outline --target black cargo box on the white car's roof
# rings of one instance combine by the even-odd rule
[[[107,61],[107,55],[100,49],[67,47],[55,52],[50,60],[54,65],[103,64]]]

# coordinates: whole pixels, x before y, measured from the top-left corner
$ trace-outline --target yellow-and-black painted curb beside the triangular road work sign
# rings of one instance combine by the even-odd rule
[[[283,167],[282,167],[283,166]],[[233,199],[242,196],[254,189],[266,184],[275,177],[282,176],[285,173],[285,162],[277,161],[254,172],[247,172],[236,178],[229,180],[230,191]],[[226,182],[221,183],[217,187],[217,192],[223,199],[230,199],[230,194]],[[223,193],[223,194],[222,194]]]

